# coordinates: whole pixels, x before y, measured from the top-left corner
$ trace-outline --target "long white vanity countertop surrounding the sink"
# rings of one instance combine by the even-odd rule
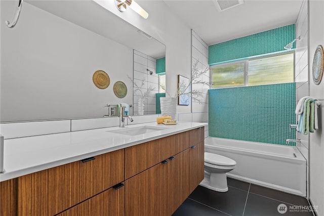
[[[178,134],[208,124],[177,122],[176,125],[164,125],[150,122],[128,125],[125,128],[143,125],[166,129],[142,135],[127,136],[109,132],[119,129],[119,127],[106,127],[5,140],[5,173],[0,174],[0,181]]]

